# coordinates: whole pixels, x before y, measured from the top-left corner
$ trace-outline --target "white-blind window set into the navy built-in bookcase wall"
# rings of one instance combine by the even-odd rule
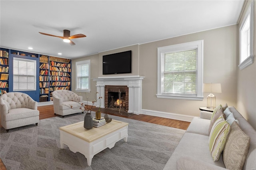
[[[36,90],[36,60],[13,58],[13,91]]]

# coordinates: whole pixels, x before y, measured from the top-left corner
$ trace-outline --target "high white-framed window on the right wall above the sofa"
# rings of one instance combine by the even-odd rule
[[[240,64],[242,70],[254,61],[253,55],[253,32],[254,32],[254,1],[250,4],[244,20],[240,26]]]

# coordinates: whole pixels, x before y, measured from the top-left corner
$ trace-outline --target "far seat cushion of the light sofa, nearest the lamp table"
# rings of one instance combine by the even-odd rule
[[[194,117],[190,125],[188,126],[188,129],[186,130],[186,132],[209,136],[209,133],[208,133],[209,125],[210,125],[209,119]]]

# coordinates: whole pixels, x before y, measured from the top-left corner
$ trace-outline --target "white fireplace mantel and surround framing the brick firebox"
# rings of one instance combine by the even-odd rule
[[[97,81],[97,98],[102,97],[97,102],[96,107],[105,108],[105,85],[126,85],[129,88],[129,107],[128,113],[140,114],[142,109],[142,80],[145,77],[135,76],[117,76],[117,77],[98,77],[92,79]]]

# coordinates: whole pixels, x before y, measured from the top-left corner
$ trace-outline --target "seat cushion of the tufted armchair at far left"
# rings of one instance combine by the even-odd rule
[[[12,121],[15,119],[22,119],[33,116],[39,116],[39,111],[28,108],[11,109],[9,110],[8,114],[4,115],[4,121]]]

